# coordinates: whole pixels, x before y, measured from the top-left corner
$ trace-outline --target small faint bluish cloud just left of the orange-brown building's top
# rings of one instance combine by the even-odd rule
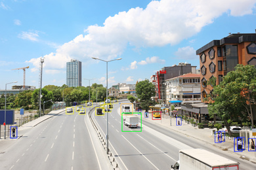
[[[196,50],[191,46],[179,48],[178,51],[175,52],[175,56],[177,56],[179,59],[198,59]]]

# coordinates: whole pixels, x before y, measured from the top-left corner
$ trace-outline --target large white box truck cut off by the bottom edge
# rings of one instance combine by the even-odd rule
[[[180,150],[179,159],[171,170],[238,170],[240,164],[201,148]]]

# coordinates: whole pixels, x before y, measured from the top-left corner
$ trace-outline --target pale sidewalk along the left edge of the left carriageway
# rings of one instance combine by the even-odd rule
[[[18,136],[17,136],[16,139],[10,139],[10,137],[7,134],[6,139],[4,139],[4,137],[2,136],[1,139],[0,139],[0,142],[1,141],[10,141],[10,140],[19,139],[20,137],[22,137],[24,135],[24,133],[26,133],[26,131],[24,131],[24,130],[32,128],[34,126],[37,126],[37,124],[40,124],[41,122],[53,117],[54,115],[59,114],[63,110],[65,110],[65,109],[52,110],[51,112],[49,112],[49,114],[45,114],[44,116],[41,116],[40,118],[37,118],[35,120],[32,120],[31,122],[23,124],[22,126],[18,127]]]

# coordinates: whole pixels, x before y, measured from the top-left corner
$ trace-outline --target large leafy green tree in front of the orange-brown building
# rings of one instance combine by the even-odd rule
[[[209,103],[209,114],[217,114],[231,135],[232,120],[245,120],[249,115],[253,124],[251,104],[255,101],[256,69],[253,65],[237,65],[223,81],[214,86],[211,93],[213,102]]]

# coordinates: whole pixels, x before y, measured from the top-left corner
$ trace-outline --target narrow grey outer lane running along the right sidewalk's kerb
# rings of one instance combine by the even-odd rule
[[[251,163],[251,161],[242,160],[240,156],[235,153],[223,151],[217,146],[213,146],[212,144],[205,143],[204,141],[200,141],[198,139],[194,139],[193,137],[183,135],[182,133],[179,133],[177,131],[172,131],[171,129],[167,129],[166,127],[151,124],[148,121],[143,121],[142,124],[145,124],[146,126],[151,127],[152,129],[155,129],[156,131],[159,131],[160,133],[163,133],[169,137],[172,137],[177,141],[181,141],[182,143],[192,148],[203,148],[205,150],[208,150],[209,152],[213,152],[220,156],[224,156],[225,158],[228,158],[230,160],[237,161],[240,163],[240,169],[255,169],[254,163]]]

